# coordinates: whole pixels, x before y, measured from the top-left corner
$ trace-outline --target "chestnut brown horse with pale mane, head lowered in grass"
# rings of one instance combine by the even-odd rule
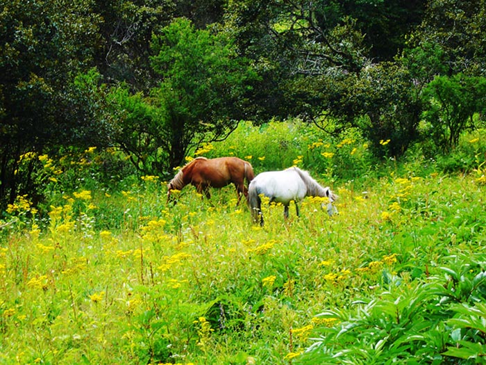
[[[248,195],[248,189],[244,186],[244,179],[249,183],[255,175],[248,161],[237,157],[219,157],[219,159],[206,159],[197,157],[187,163],[167,184],[167,201],[172,190],[182,190],[187,184],[196,187],[198,193],[204,193],[210,198],[209,188],[222,188],[228,184],[235,184],[238,194],[238,204],[241,195]]]

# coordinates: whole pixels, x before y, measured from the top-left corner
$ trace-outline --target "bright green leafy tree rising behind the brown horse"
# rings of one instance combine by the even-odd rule
[[[225,138],[237,127],[256,74],[224,34],[195,29],[187,19],[154,35],[151,47],[161,81],[145,97],[117,98],[119,143],[138,156],[141,170],[160,173],[181,165],[191,148]]]

